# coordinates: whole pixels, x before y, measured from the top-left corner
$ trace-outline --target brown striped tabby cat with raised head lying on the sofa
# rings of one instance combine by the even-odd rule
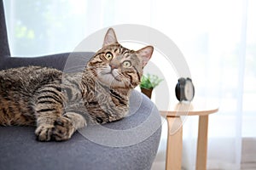
[[[122,47],[110,28],[80,73],[39,66],[0,71],[0,125],[37,126],[38,140],[61,141],[90,123],[117,121],[153,50]]]

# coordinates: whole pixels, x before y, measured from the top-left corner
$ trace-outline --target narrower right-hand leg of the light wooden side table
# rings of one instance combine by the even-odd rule
[[[207,135],[208,135],[208,115],[199,116],[196,169],[207,169]]]

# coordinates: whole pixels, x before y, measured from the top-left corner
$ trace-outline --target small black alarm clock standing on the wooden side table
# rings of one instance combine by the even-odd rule
[[[192,101],[195,96],[195,87],[192,80],[188,78],[179,78],[175,87],[175,94],[179,101]]]

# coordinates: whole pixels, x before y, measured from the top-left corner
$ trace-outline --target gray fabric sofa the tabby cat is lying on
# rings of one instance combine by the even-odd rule
[[[83,58],[86,63],[93,54],[67,53],[35,58],[10,57],[1,0],[0,29],[0,70],[23,65],[43,65],[63,70],[68,57]],[[71,65],[77,65],[76,59],[73,60],[74,63]],[[136,141],[143,134],[149,134],[147,138],[129,146],[109,147],[97,144],[79,132],[74,133],[73,138],[65,142],[42,143],[35,138],[35,127],[0,127],[0,169],[150,169],[160,142],[159,111],[150,99],[138,92],[133,92],[131,95],[130,111],[131,114],[121,121],[104,125],[117,131],[135,129],[136,133],[125,136],[125,139],[131,141]],[[140,126],[142,128],[137,128]],[[96,133],[96,127],[85,128],[84,132]],[[101,138],[102,141],[104,139],[118,141],[122,137],[104,134],[99,139]]]

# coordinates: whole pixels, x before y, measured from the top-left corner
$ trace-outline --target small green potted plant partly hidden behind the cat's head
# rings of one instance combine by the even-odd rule
[[[156,75],[143,75],[142,81],[140,84],[140,88],[142,90],[142,93],[147,95],[149,99],[151,99],[151,94],[153,89],[159,85],[160,82],[162,82],[163,79],[160,79],[160,77]]]

